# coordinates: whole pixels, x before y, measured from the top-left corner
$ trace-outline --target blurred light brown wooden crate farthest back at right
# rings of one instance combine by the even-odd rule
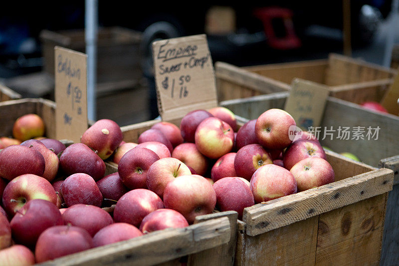
[[[250,67],[215,63],[219,101],[287,91],[297,77],[327,85],[333,97],[380,102],[396,74],[395,69],[334,53],[328,59]]]

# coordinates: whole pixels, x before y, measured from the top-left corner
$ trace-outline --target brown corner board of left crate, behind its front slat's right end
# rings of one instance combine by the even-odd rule
[[[236,245],[236,228],[238,213],[234,211],[220,212],[209,215],[197,216],[194,224],[202,223],[217,217],[227,217],[230,223],[231,235],[230,241],[218,247],[204,250],[189,256],[189,266],[199,265],[233,265],[235,245]]]

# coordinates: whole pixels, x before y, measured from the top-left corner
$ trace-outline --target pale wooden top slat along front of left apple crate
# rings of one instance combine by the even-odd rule
[[[230,230],[228,218],[221,217],[187,228],[153,232],[40,265],[154,265],[225,244],[230,240]]]

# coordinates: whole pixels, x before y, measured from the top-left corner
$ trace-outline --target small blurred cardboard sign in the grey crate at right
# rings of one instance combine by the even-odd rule
[[[292,81],[284,109],[292,115],[298,127],[308,131],[309,127],[320,126],[328,95],[327,86],[296,78]]]

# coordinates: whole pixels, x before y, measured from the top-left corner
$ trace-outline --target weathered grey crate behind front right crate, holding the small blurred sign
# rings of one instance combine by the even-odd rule
[[[288,92],[260,95],[246,99],[221,102],[222,106],[248,119],[256,119],[270,108],[284,108]],[[396,265],[399,261],[399,117],[361,108],[357,104],[329,97],[321,122],[322,129],[339,126],[380,127],[378,140],[320,139],[322,145],[336,152],[352,152],[368,165],[385,167],[394,172],[394,187],[387,198],[386,222],[381,254],[382,265]],[[323,134],[323,130],[322,133]],[[321,135],[323,136],[323,135]],[[320,224],[320,222],[319,222]],[[323,228],[318,229],[319,233]],[[321,231],[320,231],[321,230]],[[238,239],[239,241],[239,239]],[[337,261],[338,262],[338,261]]]

